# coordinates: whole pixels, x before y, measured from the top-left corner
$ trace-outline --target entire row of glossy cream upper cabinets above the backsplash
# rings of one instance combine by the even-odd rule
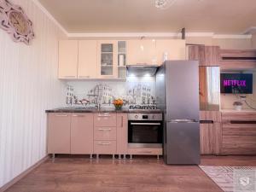
[[[125,79],[126,65],[185,60],[185,40],[61,40],[59,79]]]

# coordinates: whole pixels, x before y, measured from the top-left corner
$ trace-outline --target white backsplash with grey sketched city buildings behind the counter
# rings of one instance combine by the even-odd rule
[[[127,78],[126,82],[113,80],[68,81],[67,106],[94,107],[98,103],[113,106],[113,100],[121,98],[125,106],[130,104],[155,104],[155,78]]]

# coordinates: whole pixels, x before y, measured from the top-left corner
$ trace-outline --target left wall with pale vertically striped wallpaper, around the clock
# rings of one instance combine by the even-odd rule
[[[0,187],[46,154],[46,108],[65,100],[57,79],[59,28],[32,2],[12,0],[34,24],[32,45],[0,30]]]

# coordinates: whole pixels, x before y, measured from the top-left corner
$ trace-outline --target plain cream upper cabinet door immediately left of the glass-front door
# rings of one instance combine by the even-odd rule
[[[97,42],[96,40],[79,41],[79,79],[97,77]]]

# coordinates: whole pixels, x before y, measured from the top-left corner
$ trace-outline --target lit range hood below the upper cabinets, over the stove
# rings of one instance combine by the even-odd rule
[[[137,64],[127,66],[127,76],[154,76],[157,72],[159,66],[157,65],[147,65],[147,64]]]

